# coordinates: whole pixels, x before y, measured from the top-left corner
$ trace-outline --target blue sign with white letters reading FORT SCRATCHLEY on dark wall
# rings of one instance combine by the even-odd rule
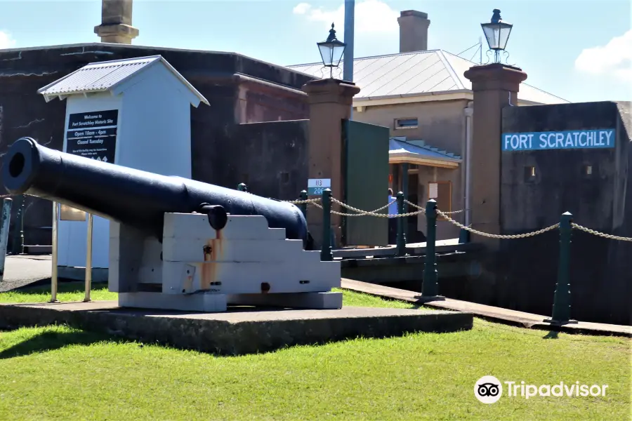
[[[503,133],[503,151],[614,147],[614,129]]]

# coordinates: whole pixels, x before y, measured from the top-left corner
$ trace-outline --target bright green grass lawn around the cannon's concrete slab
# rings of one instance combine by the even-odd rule
[[[60,290],[60,300],[83,298],[77,286]],[[47,301],[46,291],[3,293],[0,302]],[[348,291],[345,305],[411,307]],[[218,357],[63,326],[21,328],[0,333],[0,420],[630,420],[631,345],[477,319],[459,333]],[[485,405],[473,395],[483,375],[609,387],[605,397],[504,392]]]

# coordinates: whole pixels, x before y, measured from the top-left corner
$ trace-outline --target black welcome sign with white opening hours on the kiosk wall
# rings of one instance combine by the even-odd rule
[[[114,163],[119,111],[110,109],[68,116],[66,152]]]

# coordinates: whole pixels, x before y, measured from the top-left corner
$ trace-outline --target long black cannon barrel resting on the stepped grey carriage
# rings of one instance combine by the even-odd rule
[[[263,215],[287,239],[307,241],[307,223],[295,205],[187,178],[158,175],[59,152],[22,138],[4,156],[4,187],[64,203],[162,239],[164,213],[199,212],[203,204],[230,215]]]

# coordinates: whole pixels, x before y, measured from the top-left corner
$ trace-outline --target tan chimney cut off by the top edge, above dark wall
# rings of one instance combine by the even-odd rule
[[[101,25],[94,27],[94,33],[101,37],[101,42],[131,44],[138,36],[131,15],[132,0],[102,0]]]

